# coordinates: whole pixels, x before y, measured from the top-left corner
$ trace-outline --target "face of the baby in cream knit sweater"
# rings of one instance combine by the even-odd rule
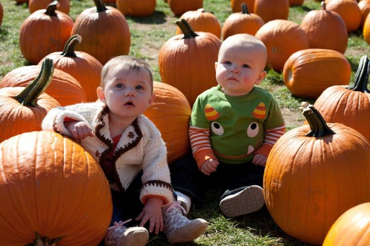
[[[105,76],[104,101],[117,117],[136,117],[154,100],[149,71],[114,68]]]

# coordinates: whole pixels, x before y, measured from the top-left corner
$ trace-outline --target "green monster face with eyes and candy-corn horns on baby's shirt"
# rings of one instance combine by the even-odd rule
[[[251,154],[263,142],[265,104],[261,102],[243,112],[236,112],[232,107],[220,108],[218,112],[207,104],[204,112],[206,119],[210,121],[210,140],[216,157],[220,161],[223,158],[251,160]]]

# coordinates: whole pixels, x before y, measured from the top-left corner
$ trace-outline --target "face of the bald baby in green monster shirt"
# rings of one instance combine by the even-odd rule
[[[215,68],[217,83],[229,96],[248,94],[266,76],[264,53],[258,47],[221,47]]]

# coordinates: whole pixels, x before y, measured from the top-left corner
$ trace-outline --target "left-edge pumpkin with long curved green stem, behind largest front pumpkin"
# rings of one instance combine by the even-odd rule
[[[41,131],[47,112],[60,107],[57,100],[43,93],[51,81],[52,66],[46,59],[40,76],[26,88],[0,89],[0,142],[24,132]]]

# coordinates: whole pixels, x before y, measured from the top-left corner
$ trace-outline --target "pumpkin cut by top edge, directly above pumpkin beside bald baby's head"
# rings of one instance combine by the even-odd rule
[[[288,19],[289,1],[288,0],[255,0],[254,10],[265,23],[273,19]]]

